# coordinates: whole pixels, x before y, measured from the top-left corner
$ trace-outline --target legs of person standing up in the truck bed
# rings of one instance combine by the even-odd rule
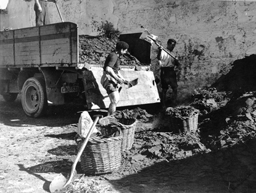
[[[54,2],[57,0],[35,0],[34,10],[36,12],[36,26],[47,25],[51,23],[47,3]]]

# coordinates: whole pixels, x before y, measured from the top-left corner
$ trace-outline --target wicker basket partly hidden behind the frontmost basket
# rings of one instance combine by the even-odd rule
[[[123,140],[121,144],[121,151],[127,151],[131,149],[134,143],[134,132],[136,127],[136,119],[116,119],[113,116],[107,116],[99,119],[99,125],[101,125],[102,135],[109,135],[112,128],[118,127],[122,130]]]

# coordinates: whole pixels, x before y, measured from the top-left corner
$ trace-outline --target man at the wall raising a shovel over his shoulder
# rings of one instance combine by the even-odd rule
[[[175,72],[175,66],[178,66],[178,60],[173,53],[173,49],[175,48],[176,41],[175,39],[168,39],[167,41],[167,50],[163,50],[163,47],[159,47],[159,52],[157,54],[157,60],[160,65],[160,80],[162,84],[162,93],[161,93],[161,101],[163,108],[166,108],[166,93],[168,90],[168,85],[171,86],[173,90],[172,93],[172,104],[176,106],[177,100],[177,92],[178,92],[178,84],[177,84],[177,76]],[[173,57],[168,54],[169,52]]]

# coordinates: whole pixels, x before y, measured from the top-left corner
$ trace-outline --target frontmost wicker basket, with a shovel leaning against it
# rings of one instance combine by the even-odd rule
[[[89,138],[88,144],[81,154],[81,168],[86,174],[104,174],[117,170],[121,165],[121,143],[120,136],[111,138]],[[83,140],[78,142],[81,148]]]

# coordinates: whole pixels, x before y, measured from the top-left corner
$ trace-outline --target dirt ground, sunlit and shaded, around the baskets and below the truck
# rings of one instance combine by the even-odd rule
[[[70,173],[83,103],[51,108],[39,119],[25,116],[20,97],[14,103],[0,97],[0,107],[0,192],[49,192],[49,184],[59,173],[66,177]],[[188,136],[175,138],[178,136],[154,130],[152,125],[154,121],[137,124],[135,143],[131,151],[123,153],[119,170],[81,177],[78,162],[76,177],[80,177],[80,183],[90,184],[88,192],[255,192],[255,138],[218,151],[202,143],[200,148],[193,144],[192,151],[180,146],[178,151],[170,150],[175,152],[170,157],[163,146]],[[155,144],[155,139],[162,141]],[[157,149],[159,146],[162,149]]]

